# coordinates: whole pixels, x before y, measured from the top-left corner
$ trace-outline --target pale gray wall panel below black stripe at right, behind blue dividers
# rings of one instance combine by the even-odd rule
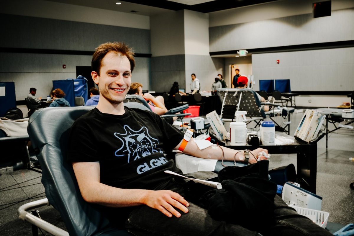
[[[256,90],[262,79],[290,79],[293,91],[353,91],[354,47],[252,54],[252,71]]]

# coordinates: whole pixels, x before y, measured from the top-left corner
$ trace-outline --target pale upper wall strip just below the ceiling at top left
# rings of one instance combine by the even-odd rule
[[[0,13],[150,29],[150,17],[148,16],[51,1],[1,1]]]

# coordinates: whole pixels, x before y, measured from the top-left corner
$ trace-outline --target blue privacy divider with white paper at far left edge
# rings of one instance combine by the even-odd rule
[[[16,108],[15,82],[0,82],[0,117],[11,108]]]

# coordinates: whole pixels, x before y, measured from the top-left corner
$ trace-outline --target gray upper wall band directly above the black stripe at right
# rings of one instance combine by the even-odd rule
[[[209,28],[210,52],[354,40],[354,8]]]

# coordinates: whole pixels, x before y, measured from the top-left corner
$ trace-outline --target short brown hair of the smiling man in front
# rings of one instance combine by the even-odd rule
[[[106,42],[99,45],[92,55],[91,69],[99,75],[102,66],[102,59],[108,52],[115,52],[119,56],[126,56],[130,62],[130,71],[133,72],[135,59],[133,48],[125,45],[124,42]]]

